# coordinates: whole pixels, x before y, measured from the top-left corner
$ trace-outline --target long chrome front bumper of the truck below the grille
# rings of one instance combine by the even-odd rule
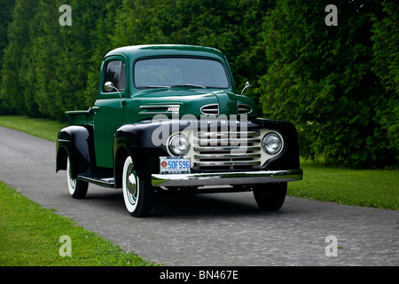
[[[153,174],[153,186],[249,185],[301,180],[303,171],[262,170],[197,174]]]

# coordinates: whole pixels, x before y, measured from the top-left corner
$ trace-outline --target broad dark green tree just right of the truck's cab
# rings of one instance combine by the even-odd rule
[[[293,122],[301,154],[349,167],[395,163],[381,129],[388,94],[372,72],[375,1],[340,2],[338,26],[326,26],[325,2],[278,2],[263,23],[270,66],[259,80],[262,109]]]

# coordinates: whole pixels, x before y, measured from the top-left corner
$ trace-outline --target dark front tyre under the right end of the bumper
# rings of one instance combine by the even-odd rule
[[[286,183],[255,185],[254,199],[260,209],[278,211],[286,200]]]

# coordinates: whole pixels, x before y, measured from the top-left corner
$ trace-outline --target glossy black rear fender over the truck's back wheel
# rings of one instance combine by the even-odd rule
[[[91,125],[68,126],[59,131],[56,142],[56,172],[66,170],[66,159],[71,161],[71,175],[90,171],[95,165],[93,129]]]

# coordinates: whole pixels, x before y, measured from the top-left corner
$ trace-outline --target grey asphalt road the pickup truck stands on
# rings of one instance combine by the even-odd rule
[[[269,213],[252,193],[209,193],[157,195],[151,217],[134,218],[120,189],[90,185],[86,199],[74,200],[66,172],[55,173],[55,144],[1,127],[0,179],[165,265],[399,265],[399,211],[287,197]]]

